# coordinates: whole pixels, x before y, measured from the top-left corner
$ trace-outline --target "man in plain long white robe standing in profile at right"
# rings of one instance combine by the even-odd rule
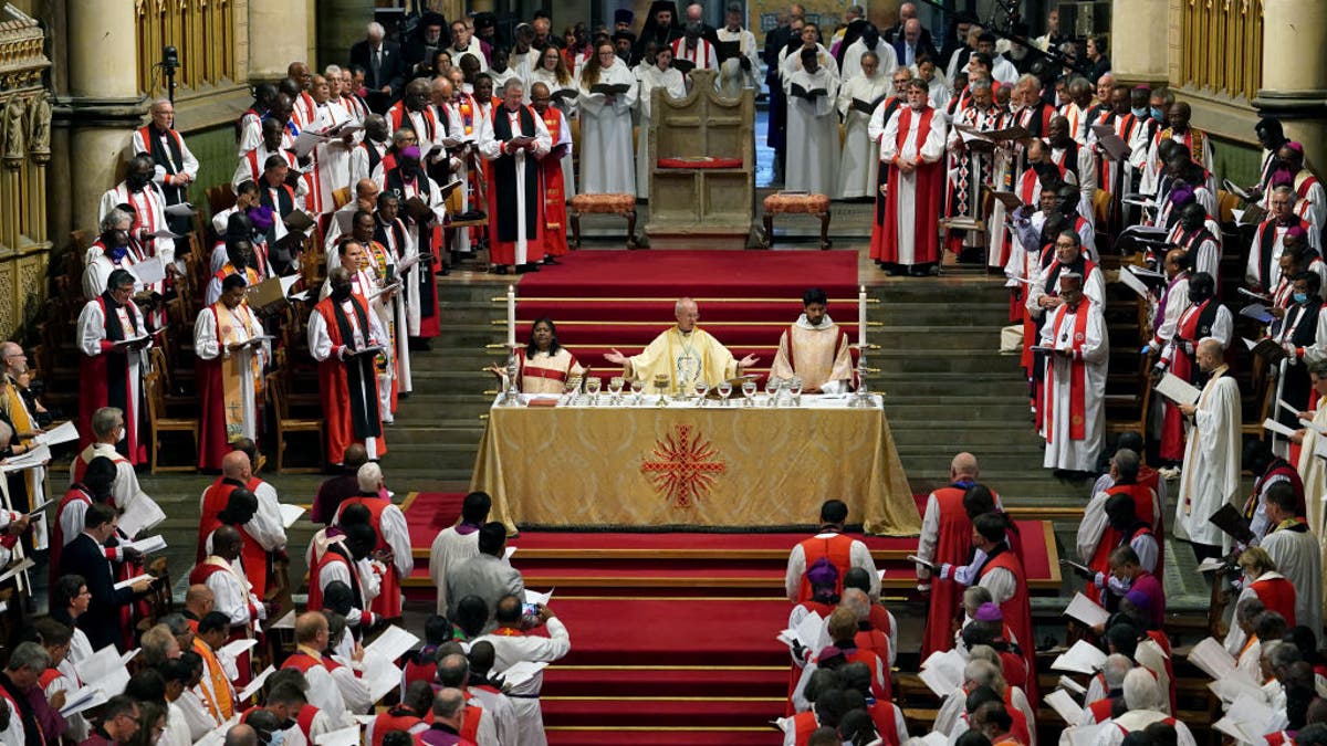
[[[1192,283],[1190,283],[1192,285]],[[1198,560],[1221,556],[1222,532],[1208,518],[1233,504],[1239,488],[1239,384],[1222,360],[1218,340],[1197,344],[1198,369],[1208,376],[1197,402],[1177,402],[1189,418],[1189,442],[1176,502],[1176,535],[1193,544]]]

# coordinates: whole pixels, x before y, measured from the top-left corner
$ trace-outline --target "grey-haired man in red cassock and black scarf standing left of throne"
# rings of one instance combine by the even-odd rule
[[[518,78],[503,86],[502,106],[490,114],[490,137],[479,153],[490,162],[488,240],[492,263],[500,271],[515,265],[529,269],[544,258],[544,195],[540,192],[539,161],[548,155],[551,139],[544,118],[522,105],[525,86]]]

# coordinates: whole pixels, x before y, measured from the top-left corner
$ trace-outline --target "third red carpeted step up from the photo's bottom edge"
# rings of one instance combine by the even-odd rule
[[[790,666],[564,666],[544,672],[544,694],[613,697],[784,697]]]

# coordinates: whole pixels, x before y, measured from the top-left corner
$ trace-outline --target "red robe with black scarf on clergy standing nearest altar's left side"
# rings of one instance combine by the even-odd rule
[[[368,340],[369,313],[364,301],[352,295],[350,303],[354,304],[360,333]],[[366,437],[377,439],[378,455],[387,453],[387,443],[382,437],[382,414],[378,411],[378,373],[373,358],[368,356],[356,356],[345,361],[337,358],[336,348],[353,340],[349,319],[330,296],[318,301],[313,312],[322,316],[333,349],[326,360],[318,362],[318,404],[322,405],[328,430],[328,463],[338,463],[346,446],[364,443]],[[352,382],[356,384],[354,389],[350,386]]]

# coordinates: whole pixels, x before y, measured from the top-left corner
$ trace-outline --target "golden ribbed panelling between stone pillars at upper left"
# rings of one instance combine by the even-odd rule
[[[149,96],[166,92],[158,66],[162,48],[179,52],[175,85],[198,90],[239,80],[235,54],[236,0],[134,0],[138,27],[138,85]]]

